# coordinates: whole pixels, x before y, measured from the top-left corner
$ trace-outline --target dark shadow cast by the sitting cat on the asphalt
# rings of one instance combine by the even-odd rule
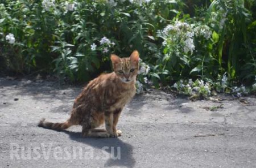
[[[107,139],[96,139],[96,138],[84,138],[81,132],[72,132],[63,130],[69,135],[70,139],[75,140],[90,147],[98,148],[108,152],[110,155],[113,154],[114,158],[110,157],[104,166],[125,166],[133,168],[135,166],[135,159],[133,158],[133,146],[120,140],[119,138],[107,138]],[[117,156],[119,153],[119,157]],[[95,157],[95,156],[94,156]],[[97,156],[96,156],[97,157]],[[95,157],[95,158],[96,158]]]

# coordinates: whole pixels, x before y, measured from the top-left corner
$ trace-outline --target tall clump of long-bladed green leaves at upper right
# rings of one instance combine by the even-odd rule
[[[214,0],[208,11],[210,17],[207,20],[215,31],[221,72],[227,70],[232,80],[253,77],[255,67],[251,63],[255,64],[255,53],[251,48],[247,29],[251,23],[251,12],[245,7],[245,1]],[[238,64],[254,68],[253,73],[248,74],[248,68]]]

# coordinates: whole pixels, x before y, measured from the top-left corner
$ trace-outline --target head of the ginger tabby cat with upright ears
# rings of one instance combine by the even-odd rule
[[[136,80],[139,71],[139,53],[134,50],[130,57],[119,58],[117,55],[111,55],[115,74],[125,83]]]

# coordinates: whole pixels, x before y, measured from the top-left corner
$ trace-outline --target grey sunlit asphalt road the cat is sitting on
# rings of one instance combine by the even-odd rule
[[[0,78],[0,167],[256,167],[255,97],[137,95],[121,114],[118,138],[36,126],[43,117],[68,119],[81,89]]]

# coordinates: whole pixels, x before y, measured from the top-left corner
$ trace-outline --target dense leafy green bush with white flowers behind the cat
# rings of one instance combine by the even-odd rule
[[[110,53],[137,49],[138,92],[188,79],[235,92],[255,82],[255,9],[253,0],[0,0],[0,70],[88,81],[111,71]],[[176,89],[196,93],[189,87]]]

